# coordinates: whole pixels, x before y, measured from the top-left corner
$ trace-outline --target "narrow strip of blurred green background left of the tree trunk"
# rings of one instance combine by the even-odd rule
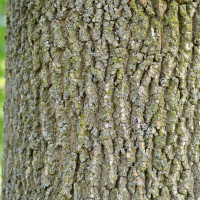
[[[0,191],[1,191],[1,172],[3,155],[3,103],[4,103],[4,66],[5,66],[5,0],[0,0]],[[1,192],[0,192],[1,194]]]

